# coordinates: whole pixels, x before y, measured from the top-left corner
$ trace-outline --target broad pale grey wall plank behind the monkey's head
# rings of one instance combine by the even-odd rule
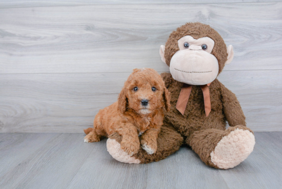
[[[159,46],[186,22],[210,24],[234,46],[226,70],[282,69],[281,16],[282,3],[1,9],[0,73],[168,71]]]

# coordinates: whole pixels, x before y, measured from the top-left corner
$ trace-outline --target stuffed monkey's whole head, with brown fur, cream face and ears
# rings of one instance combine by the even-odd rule
[[[232,45],[226,48],[219,33],[198,22],[173,31],[166,46],[160,46],[159,54],[173,79],[190,85],[211,83],[234,56]]]

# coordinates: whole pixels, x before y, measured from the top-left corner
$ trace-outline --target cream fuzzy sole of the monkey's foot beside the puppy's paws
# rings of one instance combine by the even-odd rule
[[[108,138],[107,140],[107,150],[110,155],[117,161],[123,163],[140,163],[140,160],[128,155],[121,147],[120,144],[115,140]]]

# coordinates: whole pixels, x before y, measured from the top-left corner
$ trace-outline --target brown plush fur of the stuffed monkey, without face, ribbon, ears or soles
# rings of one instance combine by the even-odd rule
[[[208,36],[214,40],[212,54],[218,60],[220,73],[227,61],[226,45],[214,29],[200,23],[187,23],[171,33],[165,49],[167,65],[170,65],[173,54],[179,50],[177,41],[185,35],[191,35],[194,39]],[[158,161],[174,153],[185,142],[207,165],[218,168],[211,162],[210,156],[218,141],[236,128],[251,131],[246,127],[245,116],[235,94],[217,79],[214,80],[209,87],[211,112],[207,117],[203,91],[200,86],[193,86],[183,116],[175,108],[183,83],[174,80],[170,73],[162,73],[161,75],[171,94],[171,111],[165,114],[164,126],[157,139],[157,152],[152,156],[139,149],[134,157],[141,160],[141,163]],[[231,126],[228,129],[225,128],[226,121]],[[117,136],[111,138],[116,139]],[[171,138],[173,140],[170,140]]]

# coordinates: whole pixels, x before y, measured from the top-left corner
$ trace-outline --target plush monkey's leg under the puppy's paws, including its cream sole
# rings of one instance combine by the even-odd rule
[[[150,163],[165,159],[172,153],[176,152],[183,144],[183,137],[174,128],[163,126],[157,138],[157,150],[154,154],[149,155],[141,146],[137,154],[129,156],[120,148],[122,136],[117,133],[109,136],[107,140],[107,149],[110,155],[117,161],[124,163]]]

